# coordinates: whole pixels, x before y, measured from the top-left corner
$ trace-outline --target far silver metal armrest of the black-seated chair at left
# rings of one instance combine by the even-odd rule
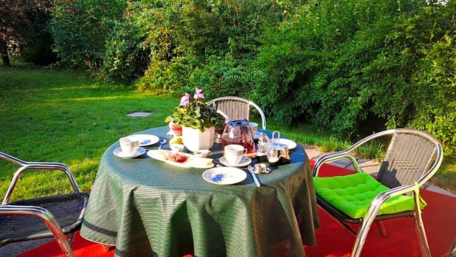
[[[34,162],[31,164],[24,165],[16,170],[14,173],[13,179],[10,183],[10,186],[8,187],[8,190],[6,191],[5,197],[3,198],[2,205],[8,203],[9,199],[11,198],[11,195],[13,194],[13,191],[16,187],[16,183],[19,180],[20,175],[25,172],[26,170],[31,170],[31,169],[44,169],[44,170],[60,170],[65,173],[65,175],[68,177],[68,180],[70,181],[71,187],[73,188],[73,191],[75,193],[80,193],[81,189],[79,188],[78,183],[76,182],[76,179],[73,176],[73,173],[71,173],[71,170],[68,166],[61,164],[61,163],[38,163]]]

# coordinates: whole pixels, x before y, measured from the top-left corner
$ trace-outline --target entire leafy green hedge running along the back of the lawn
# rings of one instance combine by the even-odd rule
[[[105,81],[239,95],[335,136],[412,127],[456,152],[456,2],[55,2],[54,51]],[[372,127],[372,128],[371,128]]]

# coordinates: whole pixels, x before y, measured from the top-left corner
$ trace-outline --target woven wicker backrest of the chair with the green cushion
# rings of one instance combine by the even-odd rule
[[[377,180],[389,188],[418,182],[434,175],[443,158],[439,140],[416,129],[395,129]]]

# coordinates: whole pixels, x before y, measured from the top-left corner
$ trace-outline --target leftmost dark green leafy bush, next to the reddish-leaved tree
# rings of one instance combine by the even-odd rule
[[[56,0],[49,31],[53,50],[65,64],[97,70],[108,36],[126,8],[125,0]]]

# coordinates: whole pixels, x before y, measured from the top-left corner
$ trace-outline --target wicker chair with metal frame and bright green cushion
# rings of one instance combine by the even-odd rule
[[[366,142],[383,136],[391,137],[391,141],[385,154],[385,159],[380,166],[376,179],[374,179],[372,176],[366,176],[364,172],[361,172],[355,158],[349,153]],[[339,221],[339,223],[348,231],[356,235],[355,244],[352,249],[352,257],[358,257],[360,255],[367,233],[373,222],[376,222],[382,236],[386,237],[386,232],[381,221],[404,216],[411,217],[414,220],[422,255],[430,256],[429,245],[427,243],[423,220],[421,218],[420,207],[423,208],[423,201],[419,196],[419,188],[436,173],[442,162],[442,156],[443,151],[439,141],[428,133],[415,129],[392,129],[368,136],[345,151],[322,155],[316,160],[313,167],[313,177],[318,205]],[[324,163],[341,158],[349,158],[353,162],[357,173],[348,175],[351,177],[318,177],[319,170]],[[366,177],[369,180],[369,182],[362,181],[362,186],[367,186],[368,183],[373,182],[378,183],[376,186],[379,188],[382,188],[383,185],[386,186],[386,188],[382,188],[376,193],[373,193],[372,191],[368,192],[367,189],[360,187],[354,182],[356,177]],[[340,182],[341,184],[332,184],[326,188],[328,183],[331,184],[334,181],[335,183]],[[328,192],[329,194],[332,194],[336,191],[345,190],[350,193],[342,196],[342,198],[344,198],[343,200],[338,198],[339,196],[328,197],[327,194]],[[368,196],[371,193],[372,195]],[[338,192],[336,194],[343,195],[344,193]],[[355,194],[358,195],[355,196]],[[350,212],[351,215],[349,215],[347,214],[349,212],[342,207],[343,204],[355,203],[355,200],[349,199],[350,197],[358,198],[355,200],[365,197],[363,198],[366,201],[363,207],[364,214],[362,214],[363,212],[359,212],[361,217],[354,218],[352,212]],[[395,197],[394,199],[401,197],[401,199],[408,201],[408,209],[402,208],[400,210],[396,209],[396,211],[391,211],[390,209],[390,212],[386,211],[386,206],[391,204],[391,197]],[[348,203],[348,201],[352,202]],[[384,205],[387,201],[388,203]],[[357,204],[359,204],[359,202],[352,206],[355,206],[354,209],[356,211],[360,211],[357,210],[359,209]],[[399,208],[397,203],[392,204],[394,205],[393,209]],[[338,207],[336,208],[335,206]],[[346,223],[361,224],[361,226],[359,227],[358,232],[356,232]]]

